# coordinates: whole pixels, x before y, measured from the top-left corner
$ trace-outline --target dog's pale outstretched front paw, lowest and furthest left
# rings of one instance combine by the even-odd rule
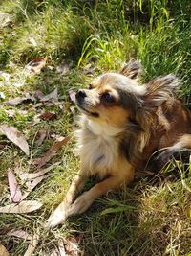
[[[70,206],[66,207],[66,205],[60,204],[49,217],[46,227],[48,229],[53,228],[54,226],[64,223],[68,218],[68,209]],[[68,208],[68,209],[67,209]]]

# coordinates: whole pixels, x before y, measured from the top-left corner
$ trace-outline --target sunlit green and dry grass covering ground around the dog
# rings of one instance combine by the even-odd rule
[[[0,122],[22,130],[32,157],[42,156],[53,145],[51,134],[73,133],[69,90],[86,86],[99,73],[117,71],[130,58],[141,61],[142,81],[175,73],[180,78],[180,98],[190,106],[190,11],[191,4],[186,0],[1,2],[0,12],[8,13],[10,21],[0,25],[0,70],[10,74],[10,79],[0,73],[0,92],[5,95],[5,99],[0,98]],[[48,58],[46,69],[29,76],[26,64],[40,57]],[[65,75],[56,71],[63,63],[70,66]],[[63,109],[3,104],[25,92],[41,90],[48,94],[54,88],[58,89],[59,100],[64,101]],[[10,108],[17,110],[12,118],[6,111]],[[19,114],[20,109],[27,110],[26,115]],[[45,109],[54,110],[57,118],[32,126],[34,115]],[[49,136],[37,146],[35,136],[44,127],[49,128]],[[35,169],[29,158],[3,136],[0,147],[0,198],[2,204],[7,204],[8,169]],[[44,222],[78,170],[74,139],[50,165],[57,161],[62,163],[29,197],[43,202],[41,210],[26,215],[1,214],[0,244],[11,255],[24,255],[28,245],[6,236],[12,228],[29,233],[40,228],[40,243],[33,254],[36,256],[49,255],[60,237],[71,235],[82,236],[80,247],[85,255],[191,255],[189,162],[172,163],[159,175],[138,178],[124,191],[96,200],[87,213],[47,233]],[[87,187],[92,183],[94,180]]]

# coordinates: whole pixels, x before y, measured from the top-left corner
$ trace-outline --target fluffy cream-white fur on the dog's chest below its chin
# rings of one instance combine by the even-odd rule
[[[87,172],[103,177],[117,164],[117,135],[121,129],[97,124],[88,119],[82,119],[82,122],[82,128],[76,132],[81,162],[88,169]]]

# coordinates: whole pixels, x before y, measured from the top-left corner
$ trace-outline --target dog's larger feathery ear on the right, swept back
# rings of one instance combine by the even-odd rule
[[[159,106],[174,98],[174,93],[179,86],[179,80],[170,74],[165,77],[156,78],[146,84],[144,102],[147,106]]]

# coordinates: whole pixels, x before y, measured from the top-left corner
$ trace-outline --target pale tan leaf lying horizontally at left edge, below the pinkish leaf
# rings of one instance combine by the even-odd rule
[[[23,200],[19,203],[12,203],[4,207],[0,207],[0,213],[31,213],[42,207],[42,203],[37,200]]]

